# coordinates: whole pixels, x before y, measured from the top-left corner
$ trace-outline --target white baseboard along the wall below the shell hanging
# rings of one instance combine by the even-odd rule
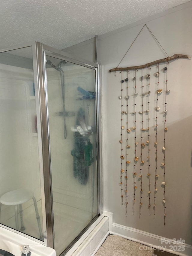
[[[109,222],[110,224],[110,222]],[[162,236],[151,234],[136,228],[126,227],[117,223],[112,223],[109,226],[110,234],[119,235],[126,239],[134,242],[139,242],[141,244],[151,246],[154,249],[159,249],[161,251],[167,251],[180,256],[191,256],[192,246],[188,244],[182,244],[181,242],[175,242],[172,239],[168,239]],[[166,244],[165,241],[169,242]],[[173,251],[175,250],[175,251]],[[181,251],[182,250],[182,251]]]

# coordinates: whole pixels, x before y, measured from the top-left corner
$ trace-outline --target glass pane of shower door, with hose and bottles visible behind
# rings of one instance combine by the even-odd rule
[[[57,255],[98,215],[95,72],[46,56]]]

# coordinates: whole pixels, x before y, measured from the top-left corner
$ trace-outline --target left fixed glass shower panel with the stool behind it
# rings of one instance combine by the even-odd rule
[[[0,223],[43,240],[32,47],[0,57]]]

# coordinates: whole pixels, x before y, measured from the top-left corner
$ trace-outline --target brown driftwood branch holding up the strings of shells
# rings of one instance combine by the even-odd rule
[[[147,63],[145,65],[140,65],[140,66],[132,66],[132,67],[127,67],[127,68],[112,68],[109,70],[109,72],[113,72],[113,71],[119,71],[119,70],[135,70],[135,69],[141,69],[141,68],[147,68],[147,67],[150,67],[150,66],[153,66],[155,64],[159,64],[159,63],[162,63],[162,62],[169,62],[171,60],[174,60],[174,59],[179,59],[179,58],[186,58],[186,59],[190,59],[189,56],[187,55],[183,55],[183,54],[174,54],[173,56],[171,57],[167,57],[167,58],[164,58],[164,59],[158,59],[158,60],[155,60],[153,62],[150,62],[150,63]]]

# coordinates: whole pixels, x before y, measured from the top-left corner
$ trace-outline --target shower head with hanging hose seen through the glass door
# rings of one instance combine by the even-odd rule
[[[67,62],[61,60],[57,66],[52,64],[50,60],[46,60],[46,64],[50,65],[52,68],[55,68],[60,73],[61,77],[61,91],[62,91],[62,100],[63,100],[63,120],[64,120],[64,139],[67,138],[67,129],[66,129],[66,111],[65,111],[65,81],[64,81],[64,72],[61,68],[61,64],[66,64]]]

